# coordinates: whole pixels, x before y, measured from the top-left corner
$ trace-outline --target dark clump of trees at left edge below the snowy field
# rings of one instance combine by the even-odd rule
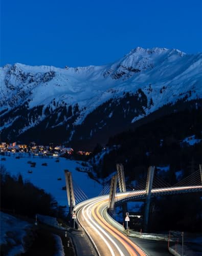
[[[36,214],[64,217],[64,210],[54,198],[29,181],[7,173],[1,165],[1,210],[34,217]]]

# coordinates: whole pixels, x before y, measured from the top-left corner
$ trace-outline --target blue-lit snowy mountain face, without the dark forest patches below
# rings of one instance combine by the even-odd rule
[[[118,61],[100,67],[6,65],[0,69],[1,129],[7,130],[5,136],[12,140],[45,120],[46,129],[65,125],[68,132],[64,141],[71,141],[75,127],[98,106],[109,99],[123,98],[125,92],[136,94],[141,90],[147,102],[144,113],[130,116],[133,123],[178,99],[201,98],[201,60],[200,53],[188,55],[175,49],[138,47]],[[35,115],[37,106],[41,106],[41,111]],[[26,109],[26,116],[20,107]],[[46,117],[53,114],[50,124]],[[27,122],[14,129],[13,123],[21,117]]]

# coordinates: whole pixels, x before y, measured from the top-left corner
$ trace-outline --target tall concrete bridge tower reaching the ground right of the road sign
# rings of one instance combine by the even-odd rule
[[[151,188],[153,183],[155,166],[149,166],[147,173],[147,184],[146,184],[146,202],[145,202],[145,214],[144,214],[144,232],[147,232],[148,219],[149,219],[149,209],[151,201]]]

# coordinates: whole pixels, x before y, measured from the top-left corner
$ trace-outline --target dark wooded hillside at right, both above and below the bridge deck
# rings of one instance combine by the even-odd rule
[[[134,180],[146,179],[149,165],[169,166],[168,172],[160,172],[161,178],[171,185],[176,184],[176,172],[181,171],[183,179],[198,170],[202,163],[201,142],[193,145],[183,142],[189,136],[201,139],[201,113],[200,108],[185,109],[111,137],[108,147],[117,146],[94,165],[97,176],[104,180],[116,171],[116,163],[123,163],[129,185]],[[95,153],[98,151],[99,145]],[[201,231],[201,203],[201,193],[153,198],[149,231]]]

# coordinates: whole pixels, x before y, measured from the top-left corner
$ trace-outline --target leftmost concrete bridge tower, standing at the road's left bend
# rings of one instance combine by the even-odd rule
[[[72,173],[69,170],[64,170],[65,182],[66,182],[66,195],[68,196],[68,205],[70,214],[72,215],[72,209],[75,206],[74,188],[72,183]]]

